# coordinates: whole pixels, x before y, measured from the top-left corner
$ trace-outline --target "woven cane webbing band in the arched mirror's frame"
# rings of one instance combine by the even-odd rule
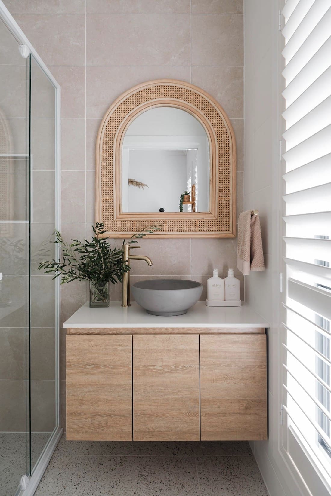
[[[148,84],[148,83],[147,83]],[[233,235],[233,212],[235,208],[234,195],[234,170],[235,170],[235,143],[233,135],[229,132],[229,122],[224,112],[211,100],[192,89],[191,85],[182,82],[153,82],[150,85],[142,86],[131,93],[127,93],[105,116],[103,132],[100,135],[100,156],[96,166],[99,167],[99,212],[97,219],[103,222],[107,233],[110,235],[120,235],[121,233],[139,232],[148,226],[159,225],[160,231],[167,233],[192,233],[193,235],[214,234]],[[114,150],[116,141],[120,136],[116,136],[119,126],[127,118],[129,113],[146,102],[153,101],[157,106],[162,100],[173,100],[176,105],[180,102],[189,104],[192,110],[196,109],[196,117],[199,114],[205,117],[216,137],[216,163],[214,171],[217,172],[218,184],[216,187],[216,219],[215,218],[195,218],[192,213],[191,219],[180,219],[180,213],[175,214],[177,218],[166,219],[151,217],[148,213],[139,219],[132,216],[132,219],[115,220],[115,198],[114,198]],[[151,108],[151,107],[149,107]],[[213,136],[209,136],[214,140]],[[217,171],[216,171],[217,166]],[[216,178],[216,174],[214,174]],[[134,217],[134,218],[133,218]],[[147,217],[147,218],[146,218]],[[172,214],[174,217],[174,214]],[[210,216],[212,217],[212,216]]]

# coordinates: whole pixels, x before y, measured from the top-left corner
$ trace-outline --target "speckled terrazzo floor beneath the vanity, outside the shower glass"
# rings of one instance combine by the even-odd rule
[[[35,496],[267,496],[247,442],[60,440]]]

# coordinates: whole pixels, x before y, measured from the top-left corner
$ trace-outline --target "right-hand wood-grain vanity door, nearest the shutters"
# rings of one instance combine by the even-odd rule
[[[200,336],[201,440],[267,437],[266,341]]]

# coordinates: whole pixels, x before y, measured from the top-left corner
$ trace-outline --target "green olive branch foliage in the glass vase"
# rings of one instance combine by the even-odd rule
[[[123,261],[123,248],[111,248],[108,242],[109,237],[101,238],[106,233],[104,224],[97,222],[95,227],[92,226],[94,236],[92,241],[84,240],[84,243],[78,240],[71,240],[73,243],[68,244],[62,238],[59,231],[56,231],[56,241],[62,249],[62,259],[43,261],[39,264],[38,269],[44,270],[46,274],[55,273],[53,279],[61,277],[61,284],[71,281],[89,281],[93,284],[108,283],[113,284],[122,282],[123,274],[130,270],[128,261]],[[153,234],[158,231],[159,226],[150,226],[143,229],[141,233],[135,233],[131,237],[129,244],[137,243],[135,239],[141,239],[146,234]]]

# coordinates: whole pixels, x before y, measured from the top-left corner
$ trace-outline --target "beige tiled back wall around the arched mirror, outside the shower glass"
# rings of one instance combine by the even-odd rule
[[[91,234],[94,147],[104,113],[122,92],[149,79],[192,82],[224,107],[236,134],[238,214],[243,210],[243,0],[5,0],[5,4],[62,87],[61,201],[66,238]],[[236,240],[150,239],[143,241],[141,252],[152,258],[153,266],[133,263],[132,281],[166,275],[205,283],[213,267],[224,276],[233,267],[238,275]],[[111,288],[112,299],[120,299],[120,289]],[[85,298],[84,283],[63,286],[62,320]],[[62,338],[64,360],[64,331]],[[64,367],[62,379],[64,390]]]

